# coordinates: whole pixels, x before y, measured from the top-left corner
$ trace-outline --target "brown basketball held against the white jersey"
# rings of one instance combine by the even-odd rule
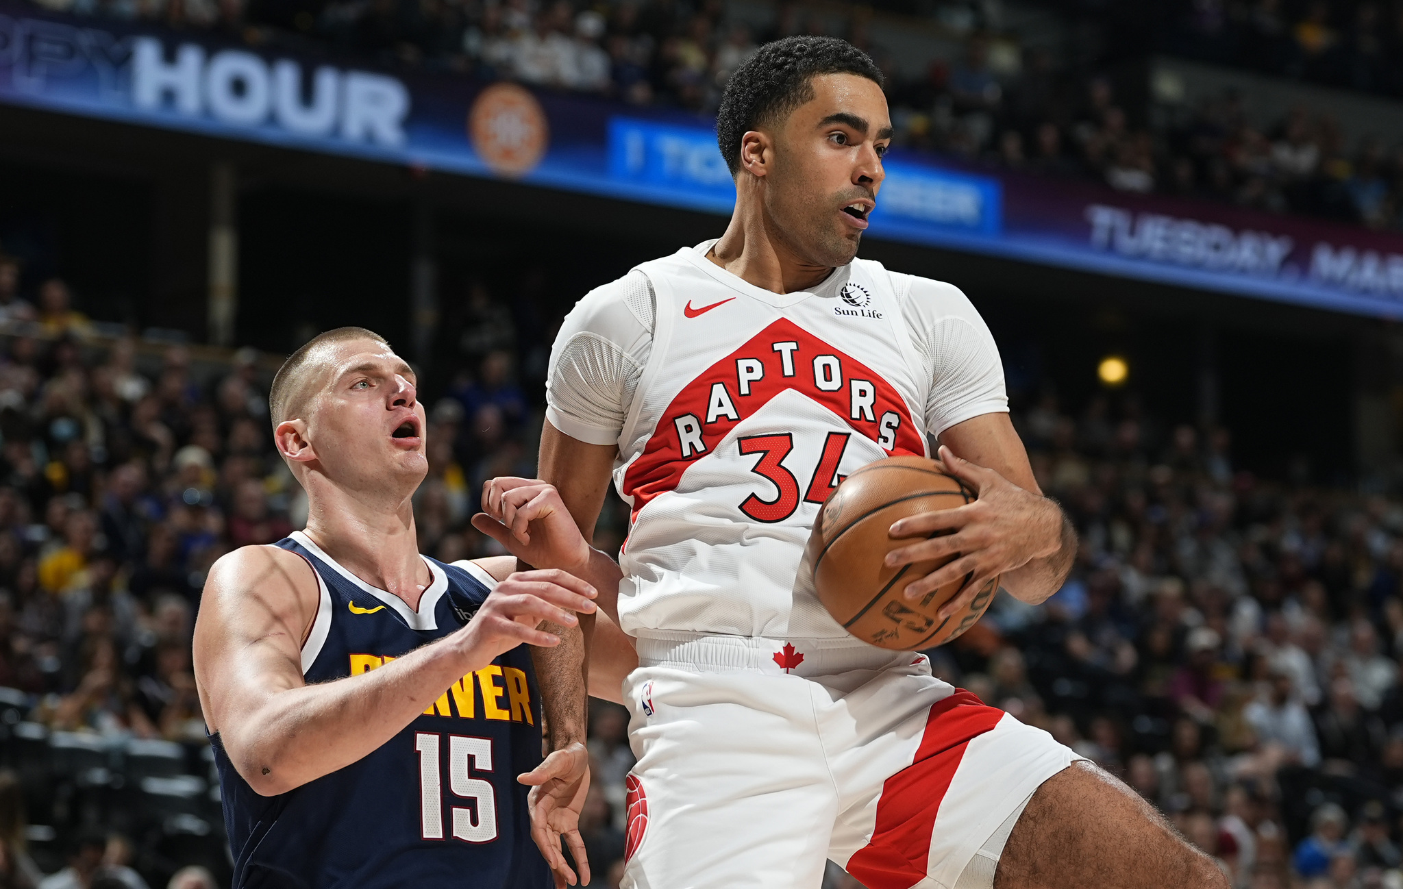
[[[898,519],[974,499],[968,485],[926,457],[888,457],[845,478],[819,509],[808,541],[814,586],[833,620],[859,639],[895,651],[934,648],[972,627],[999,589],[998,578],[985,583],[968,607],[941,620],[936,613],[960,592],[964,578],[915,602],[902,590],[957,557],[899,568],[882,559],[919,540],[891,537],[888,529]]]

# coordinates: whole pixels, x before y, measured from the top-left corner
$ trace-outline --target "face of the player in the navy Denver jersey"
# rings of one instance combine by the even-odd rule
[[[328,346],[325,367],[307,437],[328,475],[418,487],[428,473],[425,414],[410,366],[373,339],[348,339]]]

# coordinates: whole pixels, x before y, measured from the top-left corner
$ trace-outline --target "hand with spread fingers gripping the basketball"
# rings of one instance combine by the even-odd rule
[[[940,447],[940,461],[979,495],[972,503],[926,512],[895,522],[892,537],[929,537],[887,554],[891,566],[960,554],[919,581],[906,585],[906,599],[919,599],[961,578],[960,593],[940,609],[941,618],[965,609],[992,578],[1051,555],[1062,545],[1062,510],[1052,501],[1013,484],[1003,475],[961,460]],[[936,534],[936,536],[932,536]]]

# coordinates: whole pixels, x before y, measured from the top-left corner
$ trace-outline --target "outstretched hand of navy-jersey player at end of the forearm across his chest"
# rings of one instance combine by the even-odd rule
[[[484,665],[522,642],[542,648],[560,645],[560,637],[536,627],[542,621],[577,625],[577,613],[593,614],[598,595],[595,588],[558,568],[518,571],[487,596],[462,630],[463,644],[474,660],[485,656]]]

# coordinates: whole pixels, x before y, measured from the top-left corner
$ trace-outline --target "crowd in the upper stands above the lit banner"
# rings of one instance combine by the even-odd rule
[[[998,28],[991,13],[998,4],[941,6],[934,18],[944,45],[960,49],[911,77],[870,36],[873,11],[856,6],[842,18],[781,3],[769,25],[756,28],[721,0],[31,1],[703,114],[716,109],[731,72],[758,43],[826,32],[867,49],[888,73],[899,146],[1128,192],[1403,227],[1399,147],[1368,137],[1347,143],[1327,108],[1298,108],[1270,129],[1254,128],[1232,94],[1173,125],[1150,126],[1143,100],[1132,105],[1129,95],[1115,95],[1104,76],[1120,39],[1114,28],[1103,35],[1104,57],[1073,60],[1065,48],[1021,48],[1019,35]],[[1145,15],[1163,22],[1153,38],[1160,49],[1403,94],[1400,10],[1374,1],[1200,0],[1183,8],[1150,4]]]

